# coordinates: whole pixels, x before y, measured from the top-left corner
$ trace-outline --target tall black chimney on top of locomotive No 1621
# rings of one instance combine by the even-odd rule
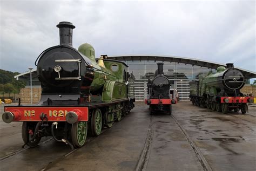
[[[72,36],[75,25],[70,22],[59,22],[56,25],[59,28],[59,44],[72,47]]]

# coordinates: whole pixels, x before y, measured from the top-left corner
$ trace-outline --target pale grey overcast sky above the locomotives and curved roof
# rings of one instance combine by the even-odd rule
[[[25,72],[59,44],[72,22],[73,46],[100,54],[158,54],[255,69],[255,1],[0,0],[0,69]]]

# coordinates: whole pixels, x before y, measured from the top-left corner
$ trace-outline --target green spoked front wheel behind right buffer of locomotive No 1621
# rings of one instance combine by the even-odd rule
[[[75,124],[72,124],[71,136],[74,146],[84,146],[87,136],[87,122],[80,121],[76,122]]]

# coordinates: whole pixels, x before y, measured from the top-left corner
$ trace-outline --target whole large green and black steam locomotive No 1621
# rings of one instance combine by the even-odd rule
[[[25,145],[35,147],[43,136],[69,144],[85,144],[87,130],[94,136],[111,127],[134,107],[134,77],[122,61],[102,56],[95,59],[90,44],[72,46],[70,22],[60,22],[60,45],[37,58],[42,97],[37,105],[5,106],[6,123],[23,121]],[[37,62],[36,60],[36,62]],[[35,64],[36,64],[35,62]]]

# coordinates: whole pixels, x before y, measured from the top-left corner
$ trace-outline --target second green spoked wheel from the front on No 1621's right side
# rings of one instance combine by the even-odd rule
[[[91,119],[91,132],[93,136],[98,136],[102,132],[102,112],[97,109],[93,111]]]

